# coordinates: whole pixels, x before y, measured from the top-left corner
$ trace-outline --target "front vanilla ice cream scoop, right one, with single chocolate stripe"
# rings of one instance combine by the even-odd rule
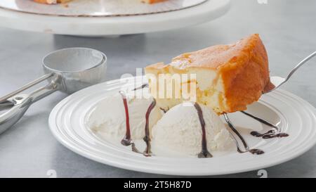
[[[205,122],[207,148],[226,151],[234,146],[225,124],[211,108],[200,105]],[[152,128],[152,150],[167,150],[179,155],[202,151],[202,127],[194,103],[181,103],[166,112]]]

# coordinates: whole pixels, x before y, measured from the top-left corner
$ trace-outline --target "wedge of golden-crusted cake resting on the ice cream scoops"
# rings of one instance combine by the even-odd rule
[[[235,44],[183,53],[168,65],[149,65],[145,74],[152,96],[164,110],[194,98],[216,113],[232,113],[246,110],[246,105],[273,87],[267,52],[258,34]]]

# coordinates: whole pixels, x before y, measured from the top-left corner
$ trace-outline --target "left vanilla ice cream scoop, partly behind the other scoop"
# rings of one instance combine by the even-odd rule
[[[147,93],[147,88],[126,93],[133,140],[143,139],[145,136],[145,114],[152,103],[152,98]],[[161,110],[155,107],[149,117],[150,130],[161,117]],[[110,139],[123,139],[126,134],[126,115],[121,94],[117,93],[100,101],[88,116],[88,127]]]

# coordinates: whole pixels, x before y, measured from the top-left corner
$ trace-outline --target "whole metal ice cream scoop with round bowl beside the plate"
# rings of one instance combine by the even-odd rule
[[[105,54],[95,49],[77,47],[49,53],[43,59],[46,75],[0,98],[0,111],[7,110],[0,115],[0,134],[18,122],[32,103],[54,91],[72,94],[85,87],[103,82],[106,63]],[[20,94],[46,79],[48,80],[46,86],[31,94]]]

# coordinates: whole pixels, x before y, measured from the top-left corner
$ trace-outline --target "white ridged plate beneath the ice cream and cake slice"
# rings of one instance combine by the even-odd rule
[[[130,148],[104,141],[86,127],[87,113],[106,96],[117,93],[122,86],[131,87],[131,79],[117,79],[88,87],[68,96],[52,110],[49,117],[51,132],[70,150],[91,160],[139,172],[173,175],[214,175],[246,172],[270,167],[296,158],[316,142],[315,108],[287,91],[277,90],[263,95],[247,110],[253,115],[278,124],[288,137],[261,139],[251,136],[251,129],[269,127],[242,115],[232,113],[230,118],[251,148],[260,148],[263,155],[231,152],[213,158],[176,158],[167,156],[145,157]],[[142,80],[137,80],[141,84]]]

